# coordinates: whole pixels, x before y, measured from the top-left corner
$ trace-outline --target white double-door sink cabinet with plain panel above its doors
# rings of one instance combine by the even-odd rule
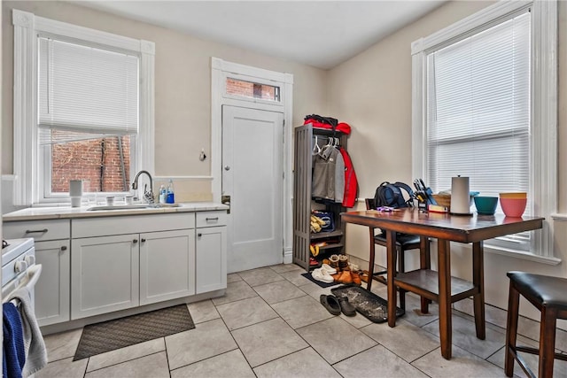
[[[192,212],[73,220],[72,236],[72,320],[195,294]]]

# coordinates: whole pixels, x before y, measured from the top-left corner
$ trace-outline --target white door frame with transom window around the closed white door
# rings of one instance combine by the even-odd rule
[[[280,102],[263,101],[254,98],[231,96],[226,93],[227,76],[246,81],[265,83],[280,88]],[[283,263],[291,264],[292,224],[291,193],[293,176],[291,174],[291,157],[293,143],[291,134],[293,126],[293,74],[278,73],[262,68],[227,62],[221,58],[211,58],[211,191],[213,200],[221,202],[222,189],[222,105],[233,105],[283,112]]]

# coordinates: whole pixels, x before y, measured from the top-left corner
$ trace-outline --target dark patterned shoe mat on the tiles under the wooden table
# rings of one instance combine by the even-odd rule
[[[339,288],[330,289],[335,297],[347,297],[357,312],[361,312],[366,318],[375,323],[384,323],[388,320],[388,301],[378,297],[373,292],[360,286],[344,285]],[[396,307],[396,317],[406,313],[400,307]]]

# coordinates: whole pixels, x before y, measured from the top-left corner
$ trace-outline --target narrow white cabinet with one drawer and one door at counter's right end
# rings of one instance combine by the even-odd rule
[[[196,293],[227,287],[227,213],[198,212]]]

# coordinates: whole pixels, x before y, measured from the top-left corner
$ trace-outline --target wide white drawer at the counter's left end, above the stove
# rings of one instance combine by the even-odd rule
[[[26,220],[4,222],[4,239],[33,237],[36,242],[68,239],[71,237],[69,220]]]

